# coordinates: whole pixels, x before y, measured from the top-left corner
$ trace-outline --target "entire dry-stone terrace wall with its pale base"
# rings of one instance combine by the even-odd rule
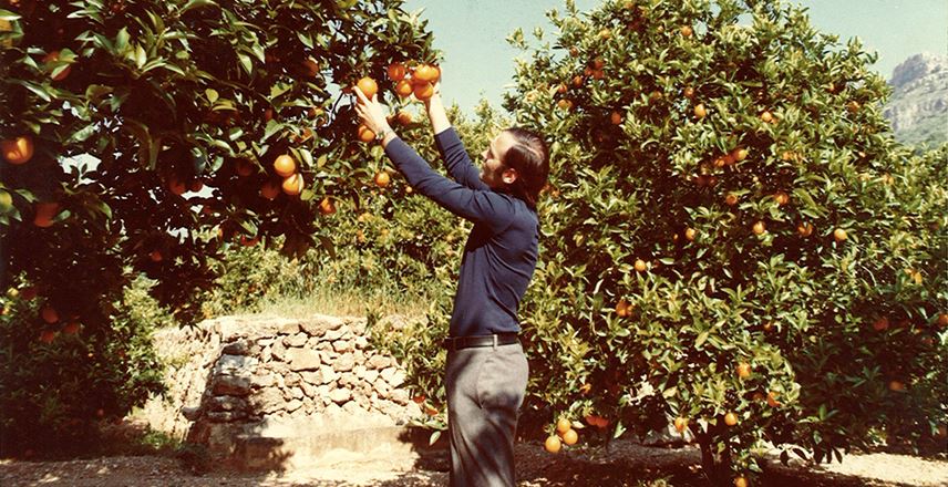
[[[226,317],[159,331],[155,344],[171,363],[168,392],[145,405],[144,418],[205,445],[215,460],[272,467],[264,457],[286,463],[301,452],[251,453],[253,445],[316,437],[336,438],[326,448],[344,449],[344,438],[356,437],[396,447],[409,421],[421,416],[402,387],[402,367],[369,346],[364,319]],[[384,433],[367,441],[367,431]],[[246,465],[247,456],[259,465]]]

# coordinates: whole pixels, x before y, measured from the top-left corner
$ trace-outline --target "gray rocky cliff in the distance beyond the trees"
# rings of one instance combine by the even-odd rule
[[[916,54],[893,71],[883,112],[896,138],[908,144],[948,142],[948,60]]]

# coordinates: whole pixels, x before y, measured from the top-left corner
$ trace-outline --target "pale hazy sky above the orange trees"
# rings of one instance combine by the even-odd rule
[[[946,0],[793,0],[810,9],[813,25],[822,32],[863,41],[864,50],[876,51],[872,68],[885,79],[908,56],[928,52],[948,56],[948,1]],[[577,0],[580,10],[599,1]],[[564,10],[563,0],[406,0],[404,9],[424,9],[434,33],[434,45],[444,55],[441,92],[447,103],[465,112],[486,97],[499,107],[505,86],[513,83],[513,59],[519,51],[507,35],[523,28],[527,40],[536,27],[553,40],[545,12]]]

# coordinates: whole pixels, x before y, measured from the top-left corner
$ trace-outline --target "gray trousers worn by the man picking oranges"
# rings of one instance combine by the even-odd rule
[[[514,434],[527,387],[519,343],[447,352],[451,486],[514,486]]]

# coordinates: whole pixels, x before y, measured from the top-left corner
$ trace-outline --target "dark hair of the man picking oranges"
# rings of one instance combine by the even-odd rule
[[[517,180],[509,185],[511,193],[536,209],[539,191],[549,177],[549,147],[539,134],[527,128],[511,127],[504,132],[516,141],[501,160],[517,172]]]

